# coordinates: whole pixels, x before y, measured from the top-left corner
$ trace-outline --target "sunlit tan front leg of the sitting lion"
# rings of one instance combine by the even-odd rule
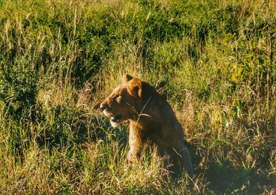
[[[135,159],[141,156],[141,148],[143,147],[141,129],[139,129],[135,124],[130,124],[128,143],[130,145],[128,163],[132,163]]]

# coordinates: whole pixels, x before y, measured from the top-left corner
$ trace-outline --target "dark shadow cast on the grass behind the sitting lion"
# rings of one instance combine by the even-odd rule
[[[215,194],[260,194],[263,189],[268,191],[276,187],[273,184],[273,178],[268,178],[264,173],[258,174],[257,170],[246,170],[241,165],[233,166],[230,161],[224,161],[221,164],[215,162],[206,163],[206,167],[199,168],[201,156],[191,150],[193,156],[195,174],[203,174],[204,180],[208,183],[208,189]]]

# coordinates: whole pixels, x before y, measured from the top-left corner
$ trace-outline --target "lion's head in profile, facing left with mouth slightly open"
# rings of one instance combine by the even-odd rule
[[[126,74],[123,83],[112,91],[100,107],[103,114],[110,118],[112,127],[117,127],[120,123],[135,118],[135,107],[141,96],[141,81]]]

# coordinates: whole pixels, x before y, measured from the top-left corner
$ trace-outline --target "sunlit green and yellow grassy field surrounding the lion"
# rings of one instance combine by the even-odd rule
[[[125,73],[175,110],[195,185],[97,105]],[[0,194],[276,193],[276,2],[0,1]]]

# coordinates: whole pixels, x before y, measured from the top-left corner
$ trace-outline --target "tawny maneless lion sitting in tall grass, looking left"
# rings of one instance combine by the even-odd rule
[[[183,172],[190,178],[194,176],[181,124],[168,102],[149,83],[126,74],[100,108],[113,127],[129,122],[128,162],[139,158],[142,147],[150,141],[157,145],[158,154],[165,156],[164,166],[174,178]]]

